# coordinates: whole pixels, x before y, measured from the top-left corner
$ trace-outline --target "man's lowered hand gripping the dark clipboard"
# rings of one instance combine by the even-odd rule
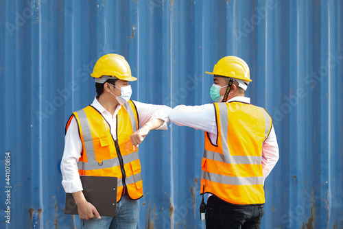
[[[84,198],[84,193],[78,191],[77,193],[72,193],[75,204],[78,206],[78,213],[80,219],[101,219],[100,214],[97,212],[97,208],[93,206],[90,202],[87,202]]]

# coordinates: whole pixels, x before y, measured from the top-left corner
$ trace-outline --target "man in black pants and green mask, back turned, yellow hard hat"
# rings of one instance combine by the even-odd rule
[[[169,119],[176,125],[204,130],[200,204],[206,228],[260,228],[265,203],[263,184],[279,159],[268,113],[250,104],[245,91],[248,64],[235,56],[220,59],[213,72],[214,104],[176,106]],[[206,213],[205,213],[206,209]]]

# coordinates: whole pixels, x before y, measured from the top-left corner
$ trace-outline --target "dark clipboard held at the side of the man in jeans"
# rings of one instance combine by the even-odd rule
[[[100,216],[115,216],[117,206],[117,178],[107,176],[80,176],[84,197],[93,204]],[[65,214],[78,215],[78,206],[71,193],[65,200]]]

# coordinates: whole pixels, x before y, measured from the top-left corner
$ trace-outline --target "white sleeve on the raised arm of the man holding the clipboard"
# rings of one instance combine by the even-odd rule
[[[133,101],[137,108],[139,126],[143,126],[151,119],[161,119],[164,121],[156,130],[168,130],[167,123],[169,123],[169,113],[171,108],[165,105],[145,104],[139,101]]]

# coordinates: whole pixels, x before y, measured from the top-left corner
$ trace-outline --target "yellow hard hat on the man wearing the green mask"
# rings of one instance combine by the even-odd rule
[[[237,56],[225,56],[215,64],[213,73],[206,73],[251,82],[248,64]]]

